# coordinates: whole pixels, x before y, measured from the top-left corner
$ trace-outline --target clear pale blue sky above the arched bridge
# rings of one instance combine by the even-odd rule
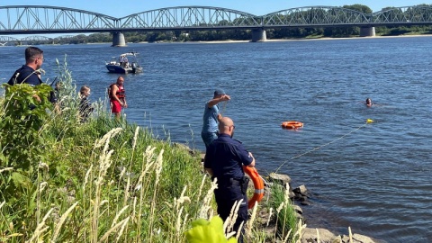
[[[121,18],[130,14],[137,14],[148,10],[175,6],[214,6],[223,7],[249,14],[264,15],[280,10],[303,6],[342,6],[350,4],[364,4],[374,12],[384,7],[412,6],[417,4],[432,4],[431,0],[0,0],[0,6],[6,5],[49,5],[86,10],[112,17]]]

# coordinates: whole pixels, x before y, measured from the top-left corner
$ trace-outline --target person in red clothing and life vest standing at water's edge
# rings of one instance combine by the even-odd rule
[[[119,76],[117,78],[117,82],[110,85],[109,87],[111,112],[115,115],[115,119],[117,121],[120,121],[121,107],[123,108],[128,107],[123,83],[124,83],[124,78],[122,76]]]

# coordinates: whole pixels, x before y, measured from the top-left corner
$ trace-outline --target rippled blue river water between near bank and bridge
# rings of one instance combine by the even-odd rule
[[[66,54],[93,100],[117,77],[104,61],[138,51],[144,73],[125,77],[127,119],[192,148],[204,149],[204,103],[223,88],[231,100],[220,110],[260,173],[280,167],[309,189],[308,227],[432,241],[431,37],[40,48],[44,79],[53,80],[55,59]],[[0,48],[0,81],[23,64],[24,49]],[[367,108],[367,97],[376,105]],[[291,120],[304,128],[283,130]]]

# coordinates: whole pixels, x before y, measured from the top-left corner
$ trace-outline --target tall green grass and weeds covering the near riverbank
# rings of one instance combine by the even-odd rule
[[[0,242],[185,242],[194,220],[215,216],[215,185],[198,153],[114,121],[102,102],[80,123],[66,65],[58,77],[61,112],[47,112],[46,85],[14,85],[14,94],[0,99]],[[42,101],[30,110],[34,92]],[[271,205],[292,210],[286,200]],[[251,211],[248,242],[272,242],[295,230],[296,222],[281,216],[279,233],[268,235],[256,215]]]

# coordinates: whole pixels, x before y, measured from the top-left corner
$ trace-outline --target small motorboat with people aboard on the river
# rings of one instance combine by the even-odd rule
[[[142,73],[142,67],[139,66],[138,57],[138,52],[126,52],[119,57],[112,57],[111,61],[105,62],[105,67],[110,73],[116,74]]]

